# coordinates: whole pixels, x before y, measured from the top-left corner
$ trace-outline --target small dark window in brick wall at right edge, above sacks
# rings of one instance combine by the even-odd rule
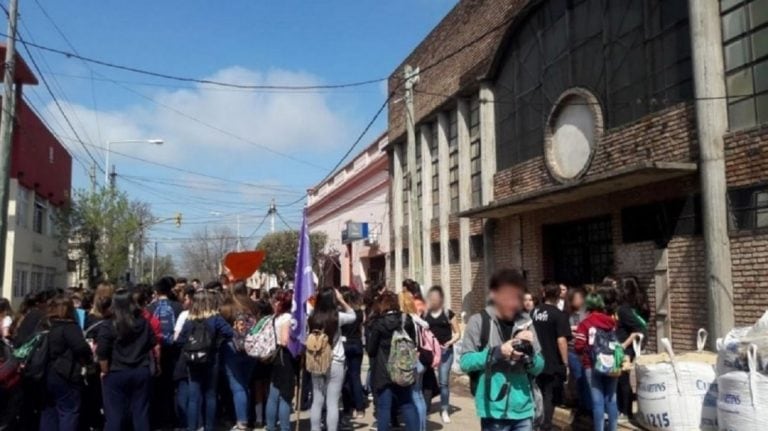
[[[768,184],[728,190],[731,230],[768,228]]]

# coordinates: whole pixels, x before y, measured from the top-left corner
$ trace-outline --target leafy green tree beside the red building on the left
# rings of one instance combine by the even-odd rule
[[[76,190],[59,212],[57,234],[70,259],[78,261],[89,286],[119,280],[144,249],[144,230],[152,221],[149,205],[119,190]]]

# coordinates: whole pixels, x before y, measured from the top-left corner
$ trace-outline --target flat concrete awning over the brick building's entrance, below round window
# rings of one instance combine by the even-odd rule
[[[666,181],[690,175],[696,170],[696,163],[642,162],[592,175],[573,183],[521,193],[491,202],[486,206],[464,211],[459,214],[459,217],[506,217]]]

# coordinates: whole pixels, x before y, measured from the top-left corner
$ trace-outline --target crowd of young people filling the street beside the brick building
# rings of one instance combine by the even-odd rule
[[[590,290],[545,281],[538,290],[500,270],[463,336],[439,286],[406,280],[398,290],[316,292],[306,364],[289,349],[289,289],[165,277],[36,292],[18,313],[2,299],[0,430],[197,431],[229,419],[233,430],[287,431],[292,412],[307,409],[312,431],[335,431],[372,400],[378,430],[424,431],[433,398],[451,423],[454,362],[470,377],[483,430],[553,429],[566,386],[595,430],[615,430],[632,414],[628,373],[598,370],[594,339],[607,334],[634,356],[648,318],[636,280],[609,277]],[[269,360],[245,347],[264,321],[276,344]]]

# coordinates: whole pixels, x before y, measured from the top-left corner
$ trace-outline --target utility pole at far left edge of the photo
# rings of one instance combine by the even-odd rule
[[[18,0],[10,0],[8,5],[8,41],[5,47],[5,67],[3,76],[3,112],[0,116],[0,285],[5,280],[5,243],[8,237],[8,199],[10,194],[11,146],[13,145],[13,119],[16,112],[16,92],[14,75],[16,71],[16,21],[18,18]]]

